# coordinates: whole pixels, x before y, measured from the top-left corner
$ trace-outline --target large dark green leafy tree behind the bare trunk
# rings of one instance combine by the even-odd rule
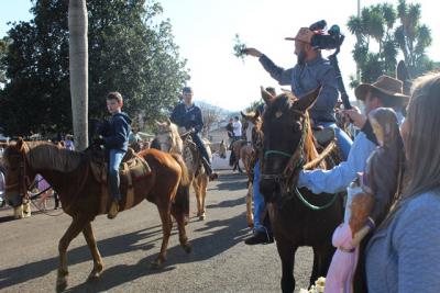
[[[151,123],[177,102],[188,80],[186,60],[173,41],[160,3],[87,1],[89,14],[89,116],[108,115],[106,95],[120,91],[124,111]],[[0,125],[9,134],[70,132],[68,1],[36,0],[34,19],[9,31],[8,82],[0,98]]]

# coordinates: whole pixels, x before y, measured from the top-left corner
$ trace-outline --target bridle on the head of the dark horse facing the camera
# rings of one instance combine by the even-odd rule
[[[274,180],[275,182],[284,185],[283,191],[289,191],[290,183],[299,174],[299,171],[302,169],[305,164],[305,151],[304,144],[307,136],[307,129],[309,127],[309,117],[302,113],[301,111],[294,110],[294,112],[302,117],[301,122],[301,138],[299,139],[299,144],[295,149],[294,154],[288,154],[282,150],[268,149],[264,153],[264,158],[267,158],[270,155],[282,155],[284,157],[288,157],[286,167],[284,168],[282,173],[262,173],[261,179],[263,180]]]

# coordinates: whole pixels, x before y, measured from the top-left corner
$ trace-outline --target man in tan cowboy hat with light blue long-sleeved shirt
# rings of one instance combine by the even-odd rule
[[[393,108],[397,113],[399,123],[402,123],[402,110],[409,97],[403,93],[400,80],[381,76],[374,83],[360,84],[354,94],[364,102],[366,115],[381,106]],[[298,179],[299,188],[308,188],[316,194],[321,192],[337,193],[348,188],[356,178],[358,172],[365,169],[366,160],[376,147],[371,125],[366,123],[366,116],[361,114],[356,108],[345,110],[344,113],[353,121],[354,126],[361,128],[361,133],[354,138],[346,161],[331,170],[301,171]]]

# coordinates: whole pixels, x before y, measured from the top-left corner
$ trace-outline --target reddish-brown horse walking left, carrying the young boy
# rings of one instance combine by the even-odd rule
[[[172,156],[160,150],[141,151],[151,172],[132,178],[132,184],[121,178],[121,210],[128,210],[146,199],[156,204],[163,229],[161,252],[153,262],[160,267],[166,260],[166,248],[176,218],[180,245],[190,252],[185,225],[189,210],[188,180],[185,162],[178,155]],[[89,154],[58,148],[47,143],[25,143],[21,138],[4,150],[7,194],[28,191],[30,178],[41,173],[59,194],[63,210],[73,217],[70,226],[59,240],[59,267],[56,289],[67,286],[67,248],[82,232],[94,258],[90,279],[97,279],[103,270],[102,258],[91,228],[91,222],[99,214],[108,212],[109,203],[106,182],[98,182],[91,173]],[[134,194],[133,194],[134,193]],[[129,196],[131,194],[132,196]],[[107,203],[107,204],[106,204]]]

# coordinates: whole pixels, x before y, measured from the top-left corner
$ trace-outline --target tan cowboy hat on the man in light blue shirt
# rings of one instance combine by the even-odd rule
[[[366,94],[371,89],[378,90],[380,92],[383,92],[391,98],[400,98],[406,100],[409,99],[408,95],[404,94],[404,82],[388,76],[378,77],[376,82],[372,84],[359,84],[358,88],[354,90],[354,95],[356,95],[359,100],[364,101]]]

